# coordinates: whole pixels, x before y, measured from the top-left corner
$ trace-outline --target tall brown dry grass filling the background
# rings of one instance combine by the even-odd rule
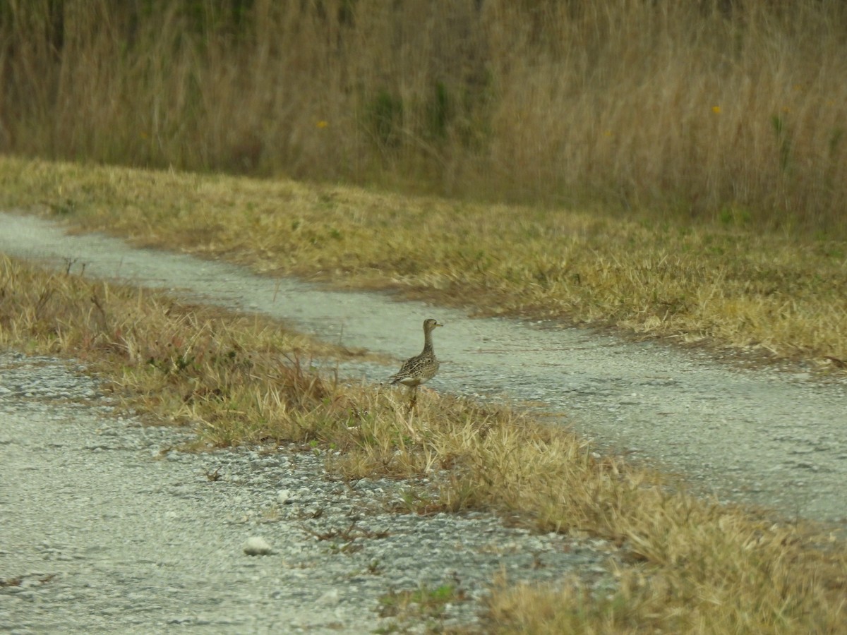
[[[4,0],[0,150],[837,229],[828,0]]]

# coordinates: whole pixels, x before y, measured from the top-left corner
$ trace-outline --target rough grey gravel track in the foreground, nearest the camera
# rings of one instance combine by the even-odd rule
[[[429,623],[473,626],[501,570],[612,584],[602,541],[386,513],[407,483],[342,483],[325,456],[174,450],[191,430],[119,417],[85,373],[0,353],[0,632],[373,632],[422,584],[462,597]]]

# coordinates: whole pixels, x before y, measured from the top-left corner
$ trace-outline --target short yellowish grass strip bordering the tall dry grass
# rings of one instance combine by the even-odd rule
[[[847,241],[289,180],[0,157],[0,206],[260,272],[838,370]]]

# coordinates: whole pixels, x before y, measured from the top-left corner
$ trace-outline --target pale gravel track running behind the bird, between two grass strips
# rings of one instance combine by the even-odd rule
[[[264,278],[102,235],[65,235],[33,216],[0,213],[0,251],[62,269],[76,259],[86,275],[268,313],[325,340],[398,357],[420,351],[420,324],[437,317],[446,328],[435,333],[435,389],[538,404],[601,447],[683,474],[719,500],[847,521],[843,379],[823,384],[805,372],[744,370],[696,351],[553,323],[471,319],[387,294]],[[381,381],[396,368],[343,370]]]

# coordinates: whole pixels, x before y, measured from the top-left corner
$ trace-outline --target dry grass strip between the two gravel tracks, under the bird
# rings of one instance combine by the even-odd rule
[[[620,544],[620,591],[495,587],[499,632],[844,632],[847,545],[667,489],[572,434],[507,408],[349,385],[303,360],[352,354],[260,317],[0,260],[0,345],[85,359],[127,406],[217,445],[340,450],[349,478],[428,476],[410,509],[482,509]],[[412,482],[413,483],[413,482]],[[399,601],[399,600],[398,600]]]

